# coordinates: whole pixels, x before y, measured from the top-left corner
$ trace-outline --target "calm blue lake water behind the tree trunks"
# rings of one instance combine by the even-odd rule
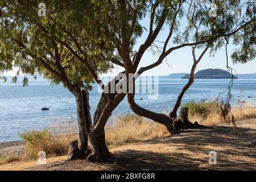
[[[140,93],[135,99],[139,105],[162,113],[172,108],[185,82],[187,80],[159,80],[157,100],[150,100],[148,94]],[[218,97],[218,93],[227,88],[228,84],[229,80],[196,80],[185,94],[183,102],[213,100]],[[234,106],[236,105],[235,98],[255,105],[256,80],[235,80],[232,94]],[[249,96],[254,98],[247,98]],[[99,98],[97,85],[94,85],[90,92],[91,113],[95,110]],[[42,111],[42,107],[49,107],[49,110]],[[123,113],[131,113],[126,99],[121,102],[113,114]],[[61,85],[52,86],[44,80],[30,81],[29,85],[24,88],[22,84],[0,83],[0,142],[20,140],[19,133],[32,129],[42,130],[55,119],[67,121],[71,116],[74,119],[77,117],[75,97]]]

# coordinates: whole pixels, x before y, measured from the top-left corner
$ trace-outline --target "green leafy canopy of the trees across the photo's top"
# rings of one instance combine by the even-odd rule
[[[116,46],[121,40],[121,31],[127,34],[131,31],[130,25],[134,11],[131,11],[129,6],[136,9],[137,14],[135,26],[128,37],[130,56],[135,54],[134,46],[148,28],[144,27],[143,22],[155,9],[153,22],[155,26],[163,20],[162,15],[166,17],[163,24],[171,26],[174,23],[171,38],[174,45],[199,42],[220,36],[210,41],[212,54],[226,43],[221,35],[229,34],[239,25],[251,20],[251,24],[242,28],[237,34],[227,36],[226,39],[233,40],[235,45],[241,45],[232,54],[234,63],[246,63],[255,58],[255,2],[253,1],[213,1],[217,5],[217,16],[210,17],[208,2],[201,2],[200,8],[191,12],[191,9],[188,9],[188,3],[179,0],[129,0],[127,1],[129,6],[127,3],[122,5],[118,1],[47,0],[44,1],[47,16],[43,18],[39,17],[37,12],[41,1],[1,0],[0,2],[2,15],[0,19],[0,72],[10,70],[15,66],[19,67],[23,73],[43,75],[53,83],[59,84],[62,80],[43,67],[40,61],[42,58],[47,59],[49,65],[57,70],[56,56],[51,54],[56,51],[57,47],[57,51],[61,53],[60,65],[65,68],[65,75],[71,82],[81,80],[87,85],[94,82],[82,61],[74,59],[74,52],[71,52],[63,43],[83,59],[88,59],[89,65],[98,75],[108,72],[113,68],[109,60],[112,57],[119,60],[122,58],[122,55],[117,53]],[[179,13],[175,19],[175,13],[178,10]],[[184,28],[181,22],[184,24],[186,21]],[[56,42],[55,38],[60,42]],[[20,47],[20,43],[26,48]],[[205,43],[198,47],[204,46]],[[73,61],[69,62],[72,59]]]

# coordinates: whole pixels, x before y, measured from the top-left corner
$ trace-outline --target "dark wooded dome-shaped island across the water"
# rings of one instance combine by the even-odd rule
[[[182,79],[188,79],[190,74],[187,74]],[[232,75],[222,69],[204,69],[195,74],[196,79],[230,79]],[[237,77],[235,77],[237,79]]]

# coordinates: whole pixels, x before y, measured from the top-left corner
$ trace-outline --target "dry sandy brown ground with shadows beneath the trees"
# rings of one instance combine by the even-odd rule
[[[256,118],[237,122],[237,127],[186,130],[110,151],[114,158],[106,163],[76,160],[49,167],[67,158],[61,156],[47,159],[46,165],[16,162],[0,170],[256,170]],[[217,152],[216,165],[209,164],[209,151]]]

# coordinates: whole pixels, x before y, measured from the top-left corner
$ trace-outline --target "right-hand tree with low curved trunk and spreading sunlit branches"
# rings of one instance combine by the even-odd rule
[[[233,52],[234,61],[245,63],[255,58],[255,5],[254,2],[241,1],[214,1],[216,3],[217,16],[209,16],[208,1],[125,1],[110,2],[113,19],[121,19],[112,28],[113,43],[125,65],[125,73],[134,74],[132,88],[135,90],[135,78],[142,73],[160,65],[172,51],[186,46],[205,48],[209,46],[214,53],[225,42],[233,39],[233,43],[241,44],[241,48]],[[149,14],[147,38],[141,46],[135,50],[135,41],[143,34],[142,20]],[[186,17],[184,16],[186,15]],[[187,27],[182,28],[181,23],[185,19]],[[110,21],[112,22],[112,21]],[[170,31],[163,40],[160,55],[155,63],[146,67],[139,67],[144,52],[156,42],[160,31],[167,24]],[[196,28],[196,31],[193,29]],[[116,31],[116,32],[113,32]],[[163,39],[163,38],[162,38]],[[168,48],[172,42],[173,46]],[[129,88],[129,84],[127,84]],[[155,122],[162,123],[170,133],[175,134],[174,119],[165,114],[154,113],[139,106],[135,100],[135,92],[128,93],[128,102],[134,113]]]

